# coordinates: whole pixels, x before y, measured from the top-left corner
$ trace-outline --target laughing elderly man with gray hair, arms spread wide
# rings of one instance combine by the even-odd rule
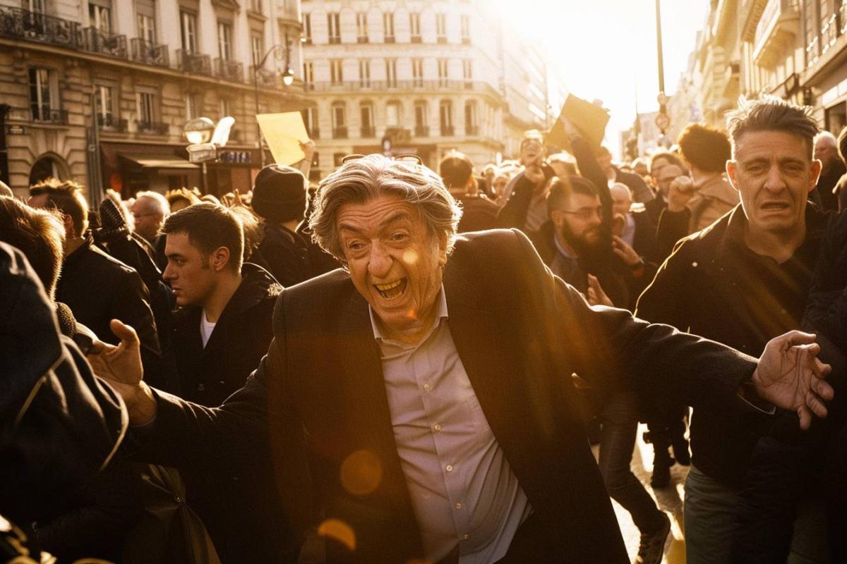
[[[268,496],[297,531],[324,517],[329,563],[623,564],[572,375],[603,395],[826,414],[814,336],[756,361],[591,308],[523,233],[457,235],[460,216],[420,164],[371,155],[330,174],[311,227],[343,268],[280,294],[267,356],[219,408],[147,386],[113,321],[121,345],[90,358],[125,399],[136,456],[202,468],[268,451]]]

